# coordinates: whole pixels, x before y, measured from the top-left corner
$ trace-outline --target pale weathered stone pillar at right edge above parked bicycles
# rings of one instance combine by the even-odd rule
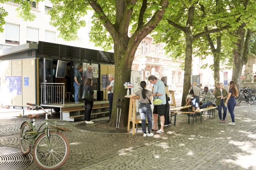
[[[244,69],[244,82],[253,82],[253,64],[255,63],[255,56],[253,54],[248,55],[248,62]]]

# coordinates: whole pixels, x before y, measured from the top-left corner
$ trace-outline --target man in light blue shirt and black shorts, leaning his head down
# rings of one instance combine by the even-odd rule
[[[154,110],[153,110],[153,116],[154,116],[154,127],[152,130],[157,130],[157,120],[158,116],[160,116],[160,122],[161,122],[161,128],[160,130],[157,130],[156,133],[164,133],[163,127],[164,127],[164,113],[165,113],[165,105],[166,105],[166,96],[165,94],[165,87],[163,82],[160,79],[157,79],[154,75],[151,75],[148,77],[148,81],[154,85],[154,90],[152,96],[154,96],[154,99],[161,99],[162,103],[159,105],[154,104]]]

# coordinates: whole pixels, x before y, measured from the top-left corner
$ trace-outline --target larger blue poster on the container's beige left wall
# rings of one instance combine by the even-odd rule
[[[21,76],[5,77],[7,89],[10,94],[21,95]]]

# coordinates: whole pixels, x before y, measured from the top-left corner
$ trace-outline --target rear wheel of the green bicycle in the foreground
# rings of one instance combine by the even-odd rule
[[[23,155],[29,154],[31,150],[31,141],[27,139],[29,134],[26,134],[31,128],[28,122],[25,122],[20,128],[20,150]]]

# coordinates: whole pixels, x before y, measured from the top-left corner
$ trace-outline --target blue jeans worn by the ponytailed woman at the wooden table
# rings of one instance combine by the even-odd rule
[[[140,117],[142,124],[142,131],[146,132],[146,115],[148,117],[148,132],[152,130],[152,110],[149,103],[140,103]]]

